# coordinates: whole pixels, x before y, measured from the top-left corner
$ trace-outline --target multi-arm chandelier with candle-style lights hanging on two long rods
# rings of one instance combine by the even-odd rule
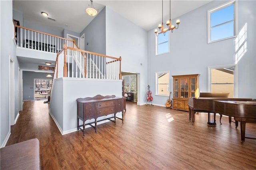
[[[168,31],[173,32],[174,28],[178,29],[179,28],[179,24],[180,24],[180,20],[176,20],[176,24],[177,24],[177,27],[171,24],[171,0],[170,0],[170,20],[166,21],[167,28],[164,28],[164,22],[163,22],[163,0],[162,0],[162,25],[161,24],[158,25],[159,31],[157,29],[155,30],[156,36],[158,36],[159,34],[162,34],[162,33],[165,35],[165,33],[168,32]]]

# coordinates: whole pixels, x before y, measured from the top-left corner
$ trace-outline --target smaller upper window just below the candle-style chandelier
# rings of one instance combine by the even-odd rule
[[[169,34],[159,34],[156,36],[156,55],[169,52]]]

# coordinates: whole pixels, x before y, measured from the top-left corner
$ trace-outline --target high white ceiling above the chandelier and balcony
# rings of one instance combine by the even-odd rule
[[[171,0],[171,18],[190,12],[212,0]],[[94,17],[85,13],[90,0],[13,0],[13,10],[23,12],[26,21],[40,23],[62,31],[64,28],[80,33]],[[94,0],[100,12],[105,6],[127,18],[144,30],[154,29],[162,22],[161,0]],[[163,1],[164,22],[169,19],[169,0]],[[49,20],[41,15],[47,12]],[[181,20],[182,24],[182,20]]]

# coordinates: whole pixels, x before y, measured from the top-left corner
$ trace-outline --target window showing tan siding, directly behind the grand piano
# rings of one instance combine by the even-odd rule
[[[230,98],[237,97],[236,73],[236,65],[208,67],[208,92],[225,92]]]

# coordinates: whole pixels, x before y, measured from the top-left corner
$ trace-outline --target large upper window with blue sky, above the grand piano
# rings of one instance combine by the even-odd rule
[[[208,10],[208,43],[236,35],[235,1]]]

